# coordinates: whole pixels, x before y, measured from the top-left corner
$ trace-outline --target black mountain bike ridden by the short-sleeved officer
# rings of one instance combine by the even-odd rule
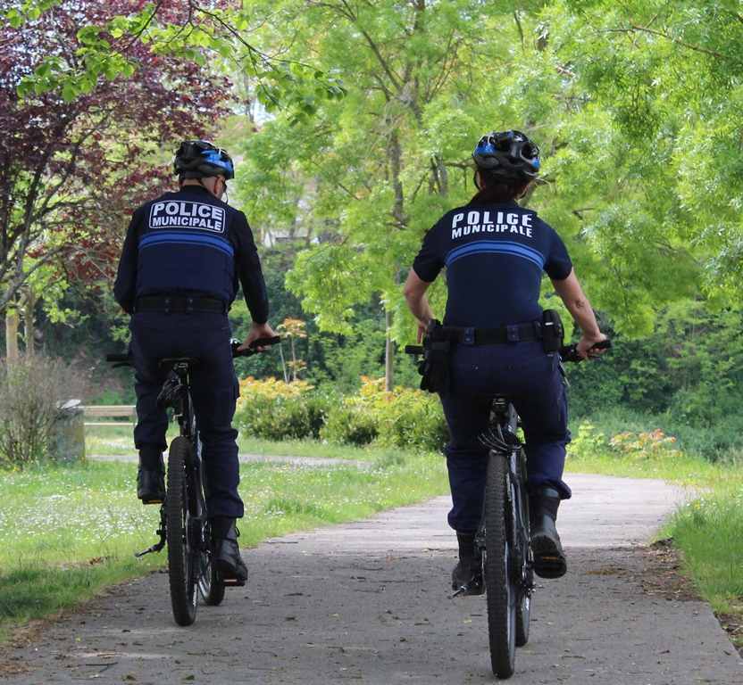
[[[611,342],[606,340],[596,347],[607,349]],[[407,345],[405,352],[425,353],[418,345]],[[560,351],[560,359],[564,378],[564,363],[582,360],[574,344]],[[485,503],[475,534],[481,573],[449,597],[481,595],[485,591],[490,665],[497,678],[505,679],[513,675],[516,648],[529,641],[531,595],[536,587],[530,547],[529,495],[524,488],[526,457],[511,398],[492,393],[478,400],[490,406],[488,428],[480,434],[480,442],[490,450]]]

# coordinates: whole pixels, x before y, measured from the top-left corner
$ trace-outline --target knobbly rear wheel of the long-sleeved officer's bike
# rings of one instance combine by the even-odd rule
[[[179,625],[196,621],[198,591],[196,583],[197,541],[194,540],[188,508],[187,465],[193,458],[191,443],[183,436],[171,442],[168,455],[167,513],[168,578],[171,585],[173,618]]]

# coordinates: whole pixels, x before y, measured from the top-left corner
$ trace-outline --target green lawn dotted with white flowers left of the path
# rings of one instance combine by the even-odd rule
[[[86,452],[131,454],[130,427],[88,430]],[[444,458],[395,449],[337,449],[318,442],[243,442],[242,453],[353,459],[358,465],[244,464],[240,545],[362,519],[447,492]],[[0,640],[30,620],[166,564],[159,508],[135,493],[137,464],[88,459],[4,472],[0,483]]]

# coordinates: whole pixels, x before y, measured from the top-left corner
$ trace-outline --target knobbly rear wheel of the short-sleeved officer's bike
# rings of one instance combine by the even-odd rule
[[[485,587],[488,599],[490,665],[497,678],[510,678],[516,660],[516,598],[509,541],[512,493],[507,458],[492,452],[485,487]]]

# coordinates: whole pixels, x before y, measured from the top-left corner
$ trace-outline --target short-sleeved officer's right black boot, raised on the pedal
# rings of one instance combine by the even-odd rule
[[[567,563],[555,521],[560,495],[552,488],[541,488],[529,494],[531,551],[534,573],[540,578],[562,578]]]

